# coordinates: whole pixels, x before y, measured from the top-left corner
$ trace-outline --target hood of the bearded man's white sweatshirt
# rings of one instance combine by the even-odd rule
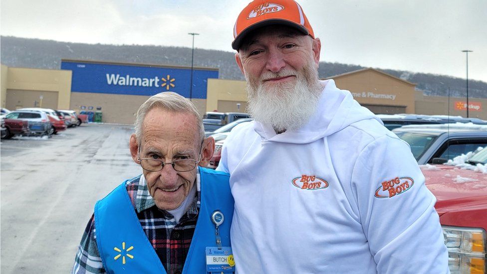
[[[262,141],[307,144],[361,120],[376,119],[382,124],[374,113],[353,99],[350,91],[338,89],[331,79],[320,82],[324,88],[308,123],[299,130],[276,134],[271,126],[255,121],[255,132]]]

